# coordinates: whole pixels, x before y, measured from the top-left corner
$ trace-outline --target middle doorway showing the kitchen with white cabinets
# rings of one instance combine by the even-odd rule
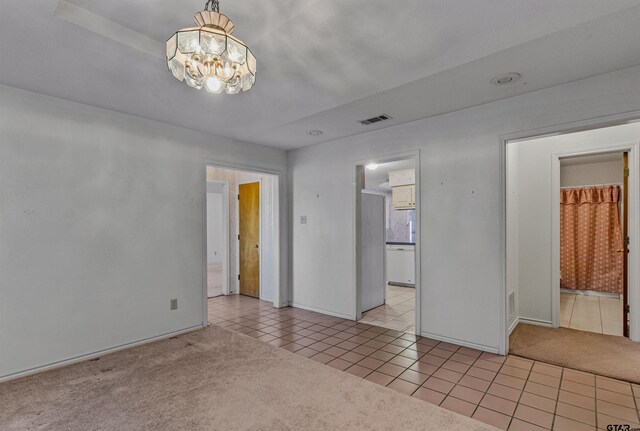
[[[417,155],[356,169],[356,320],[419,333]]]

